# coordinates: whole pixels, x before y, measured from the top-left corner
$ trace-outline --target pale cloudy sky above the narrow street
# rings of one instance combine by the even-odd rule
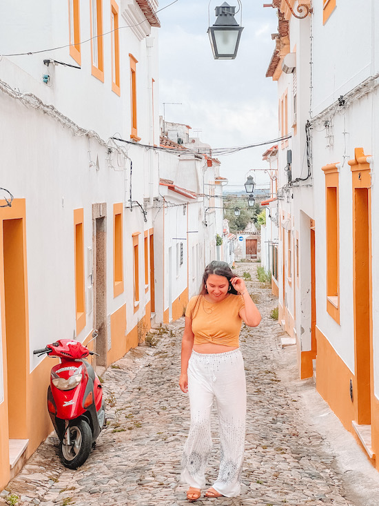
[[[160,0],[159,8],[170,1]],[[207,28],[216,20],[214,10],[223,1],[178,0],[158,13],[160,114],[165,102],[166,121],[191,126],[192,137],[198,136],[212,148],[276,139],[276,82],[265,77],[275,47],[271,34],[277,32],[276,9],[263,8],[264,0],[242,0],[244,30],[237,57],[214,60]],[[237,6],[237,0],[227,3]],[[240,23],[240,12],[236,21]],[[262,153],[270,146],[218,157],[220,173],[229,180],[224,191],[243,189],[247,173],[257,186],[268,187],[267,174],[249,171],[268,167]]]

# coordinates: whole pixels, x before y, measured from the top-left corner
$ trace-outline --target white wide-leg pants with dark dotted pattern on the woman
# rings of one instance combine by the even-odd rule
[[[205,487],[205,468],[212,449],[210,416],[216,398],[221,458],[214,489],[226,497],[240,494],[245,447],[246,379],[240,349],[225,353],[196,353],[188,363],[191,426],[185,442],[181,480]]]

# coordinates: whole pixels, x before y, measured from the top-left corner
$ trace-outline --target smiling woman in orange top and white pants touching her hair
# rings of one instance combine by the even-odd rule
[[[181,353],[179,386],[189,393],[191,426],[183,455],[182,481],[187,499],[201,496],[205,467],[212,449],[210,413],[216,398],[221,442],[218,478],[206,497],[235,497],[245,445],[246,381],[238,347],[242,321],[249,327],[260,313],[245,282],[226,262],[211,262],[203,274],[199,295],[189,300]]]

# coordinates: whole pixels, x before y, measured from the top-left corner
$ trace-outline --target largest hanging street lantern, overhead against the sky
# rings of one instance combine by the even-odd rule
[[[239,0],[238,3],[240,4]],[[236,8],[228,3],[224,2],[222,6],[216,7],[215,11],[217,19],[207,30],[213,57],[215,60],[234,60],[243,26],[239,26],[234,19]]]

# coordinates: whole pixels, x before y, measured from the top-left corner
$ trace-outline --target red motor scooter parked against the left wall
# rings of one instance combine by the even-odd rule
[[[92,336],[96,338],[97,331]],[[48,411],[59,437],[62,463],[76,469],[85,463],[105,427],[101,382],[92,365],[84,360],[97,353],[71,339],[59,339],[33,353],[39,356],[47,353],[61,359],[51,370]]]

